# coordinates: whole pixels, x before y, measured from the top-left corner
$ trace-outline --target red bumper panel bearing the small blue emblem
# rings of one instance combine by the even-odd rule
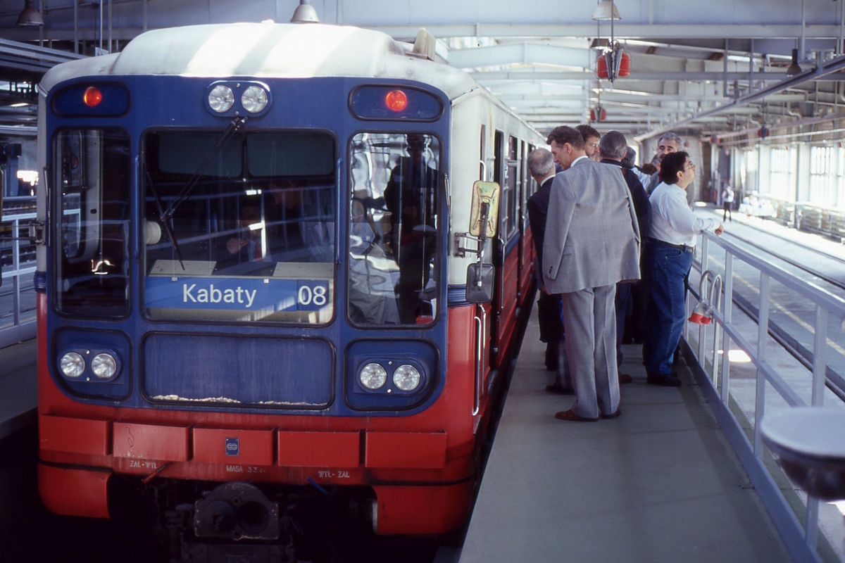
[[[273,430],[194,428],[194,461],[273,464]]]

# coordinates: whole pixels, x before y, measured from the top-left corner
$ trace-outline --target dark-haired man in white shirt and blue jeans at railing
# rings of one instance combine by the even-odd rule
[[[647,382],[679,387],[672,360],[684,327],[684,278],[692,266],[695,237],[705,230],[722,234],[717,219],[695,215],[686,188],[695,180],[695,165],[685,151],[666,154],[661,183],[651,193],[651,230],[646,238],[643,275],[649,287],[643,360]]]

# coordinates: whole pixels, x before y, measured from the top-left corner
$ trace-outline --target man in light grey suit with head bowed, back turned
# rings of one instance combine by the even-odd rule
[[[566,355],[575,404],[559,420],[620,414],[616,366],[616,284],[640,279],[640,231],[622,171],[586,157],[572,127],[546,141],[564,169],[554,177],[542,247],[543,282],[563,301]]]

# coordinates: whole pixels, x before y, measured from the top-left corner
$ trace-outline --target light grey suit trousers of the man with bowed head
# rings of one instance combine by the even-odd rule
[[[590,419],[619,408],[616,366],[616,285],[561,294],[566,355],[570,360],[575,404],[572,412]]]

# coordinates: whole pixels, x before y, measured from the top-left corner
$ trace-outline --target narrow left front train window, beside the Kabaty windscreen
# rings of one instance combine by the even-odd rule
[[[129,311],[129,137],[72,129],[53,145],[60,228],[55,306],[66,315],[121,318]]]

